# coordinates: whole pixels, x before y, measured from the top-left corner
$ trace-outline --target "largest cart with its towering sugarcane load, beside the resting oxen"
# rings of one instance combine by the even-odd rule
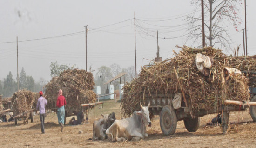
[[[254,76],[243,71],[254,74],[256,56],[230,57],[212,47],[179,48],[174,58],[142,67],[139,76],[123,87],[124,117],[138,110],[140,101],[144,105],[150,102],[150,117],[160,116],[164,135],[174,134],[180,120],[189,132],[195,132],[200,117],[213,113],[222,113],[226,133],[229,112],[249,107],[255,121]]]

